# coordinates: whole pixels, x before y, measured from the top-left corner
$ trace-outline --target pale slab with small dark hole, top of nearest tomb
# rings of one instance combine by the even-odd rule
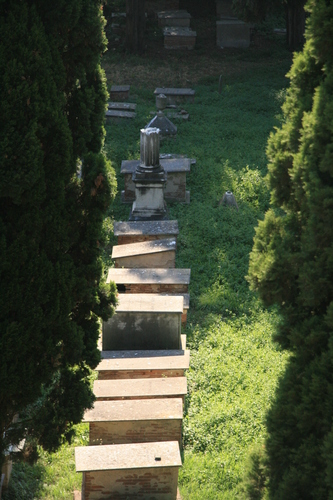
[[[167,441],[76,447],[75,465],[77,472],[86,472],[180,467],[182,463],[178,442]]]

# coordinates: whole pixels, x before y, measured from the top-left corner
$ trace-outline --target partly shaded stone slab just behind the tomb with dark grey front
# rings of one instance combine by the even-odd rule
[[[125,283],[163,283],[186,284],[190,283],[191,269],[116,269],[108,272],[107,283],[114,281],[116,284]]]

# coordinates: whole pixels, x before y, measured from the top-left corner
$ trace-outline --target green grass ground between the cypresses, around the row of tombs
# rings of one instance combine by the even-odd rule
[[[198,45],[191,53],[166,53],[160,34],[151,30],[143,56],[111,45],[104,62],[108,85],[130,84],[129,101],[137,104],[134,121],[106,127],[105,152],[119,189],[109,227],[129,216],[130,206],[120,202],[120,165],[140,156],[140,129],[155,109],[154,89],[196,90],[195,102],[183,104],[189,121],[177,122],[176,139],[160,149],[196,159],[187,180],[190,204],[169,206],[180,230],[176,266],[192,269],[184,332],[191,367],[179,478],[183,500],[241,497],[246,459],[265,436],[265,414],[286,361],[271,340],[279,317],[262,307],[245,276],[255,226],[269,205],[265,147],[278,125],[291,55],[275,41],[266,48],[219,50],[204,26],[196,26]],[[226,190],[234,193],[238,211],[219,204]],[[111,236],[106,255],[113,243]],[[86,441],[87,428],[80,425],[74,445]],[[15,466],[4,499],[71,499],[80,483],[74,445],[41,453],[34,466]]]

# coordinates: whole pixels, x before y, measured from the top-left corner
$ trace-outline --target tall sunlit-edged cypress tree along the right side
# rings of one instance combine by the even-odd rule
[[[272,499],[333,498],[333,2],[309,0],[284,121],[268,144],[272,206],[249,280],[291,353],[267,418]]]

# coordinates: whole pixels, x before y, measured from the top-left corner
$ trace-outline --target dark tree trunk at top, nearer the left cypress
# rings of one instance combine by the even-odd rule
[[[130,52],[143,51],[145,29],[145,0],[126,0],[126,48]]]

